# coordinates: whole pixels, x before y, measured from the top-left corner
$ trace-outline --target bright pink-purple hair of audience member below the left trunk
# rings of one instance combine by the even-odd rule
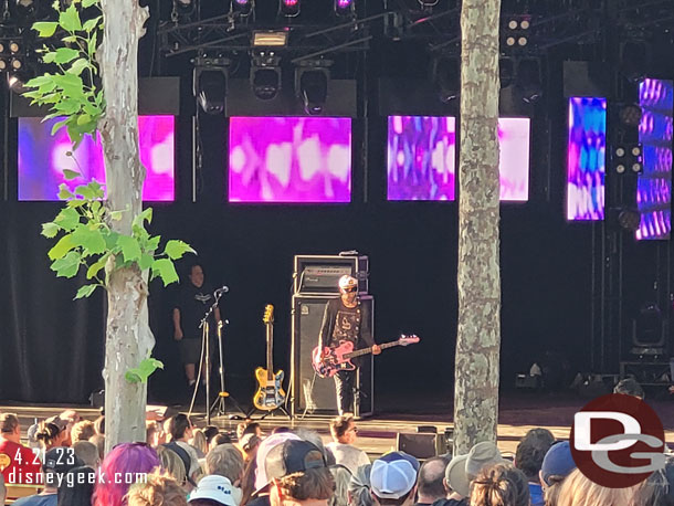
[[[101,464],[93,506],[125,506],[124,497],[138,475],[160,465],[157,452],[146,443],[118,444]]]

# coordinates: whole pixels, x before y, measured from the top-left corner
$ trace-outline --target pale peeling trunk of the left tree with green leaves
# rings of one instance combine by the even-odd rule
[[[124,210],[110,225],[130,235],[134,217],[143,211],[145,169],[138,156],[138,41],[147,10],[138,0],[102,0],[105,33],[97,60],[106,102],[101,124],[105,152],[107,205]],[[147,383],[130,383],[125,375],[148,357],[155,339],[148,324],[147,273],[138,268],[113,271],[107,291],[105,346],[105,447],[145,441]]]

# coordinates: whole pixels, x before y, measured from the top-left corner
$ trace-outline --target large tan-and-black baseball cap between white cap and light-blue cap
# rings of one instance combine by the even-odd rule
[[[264,463],[267,479],[293,473],[327,467],[318,446],[308,441],[288,440],[274,446]]]

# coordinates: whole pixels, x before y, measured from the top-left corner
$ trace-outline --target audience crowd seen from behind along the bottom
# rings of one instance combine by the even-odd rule
[[[617,391],[643,398],[638,387]],[[349,414],[330,422],[325,445],[317,432],[265,434],[250,420],[232,441],[176,414],[108,454],[104,422],[66,411],[28,428],[24,445],[17,415],[0,413],[0,505],[20,482],[39,493],[15,506],[674,506],[674,458],[639,485],[605,488],[546,429],[528,431],[512,461],[484,441],[420,465],[403,452],[370,462]]]

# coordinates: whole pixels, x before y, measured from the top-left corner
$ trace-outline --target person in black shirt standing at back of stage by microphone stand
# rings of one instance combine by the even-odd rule
[[[185,363],[185,373],[188,384],[194,384],[196,363],[201,357],[202,329],[199,328],[206,312],[214,303],[213,291],[204,283],[203,268],[199,264],[190,267],[189,283],[180,286],[178,301],[173,306],[173,338],[180,342],[180,355]],[[213,319],[214,316],[214,319]],[[220,323],[220,309],[210,316],[210,328]],[[209,339],[209,346],[210,339]],[[211,346],[214,351],[214,347]]]

